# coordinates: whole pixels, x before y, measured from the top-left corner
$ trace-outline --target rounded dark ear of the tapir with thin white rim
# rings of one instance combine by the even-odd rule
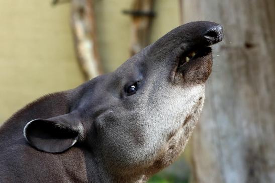
[[[71,114],[49,119],[35,119],[24,128],[27,141],[39,150],[63,152],[82,137],[83,126]]]

